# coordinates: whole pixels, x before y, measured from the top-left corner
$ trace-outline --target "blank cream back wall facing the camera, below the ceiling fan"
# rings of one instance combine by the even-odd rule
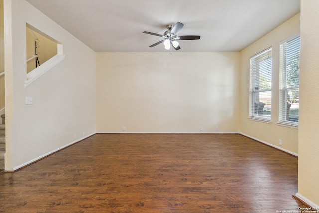
[[[239,52],[97,53],[97,132],[237,132]]]

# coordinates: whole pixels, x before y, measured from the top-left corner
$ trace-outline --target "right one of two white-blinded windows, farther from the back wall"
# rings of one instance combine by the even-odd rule
[[[299,121],[300,37],[280,45],[279,122],[298,125]]]

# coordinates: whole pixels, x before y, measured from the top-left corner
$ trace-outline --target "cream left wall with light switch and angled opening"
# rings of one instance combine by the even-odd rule
[[[96,54],[27,1],[5,0],[4,8],[5,168],[16,170],[95,132]],[[65,54],[27,87],[26,23],[61,42]]]

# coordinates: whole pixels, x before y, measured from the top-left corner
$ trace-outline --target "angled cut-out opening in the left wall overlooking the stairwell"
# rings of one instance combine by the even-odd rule
[[[26,24],[26,73],[57,55],[58,44],[55,39]]]

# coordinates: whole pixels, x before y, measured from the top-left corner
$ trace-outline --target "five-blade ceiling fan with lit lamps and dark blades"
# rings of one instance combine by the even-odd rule
[[[199,35],[183,35],[183,36],[178,36],[177,34],[179,31],[183,28],[184,24],[177,22],[175,25],[168,24],[167,25],[167,31],[163,34],[157,34],[153,32],[146,32],[144,31],[143,33],[149,34],[149,35],[155,35],[164,38],[163,40],[152,44],[149,47],[154,47],[156,45],[159,45],[160,43],[164,43],[165,49],[170,50],[172,47],[175,50],[180,50],[179,42],[177,40],[198,40],[200,39]]]

